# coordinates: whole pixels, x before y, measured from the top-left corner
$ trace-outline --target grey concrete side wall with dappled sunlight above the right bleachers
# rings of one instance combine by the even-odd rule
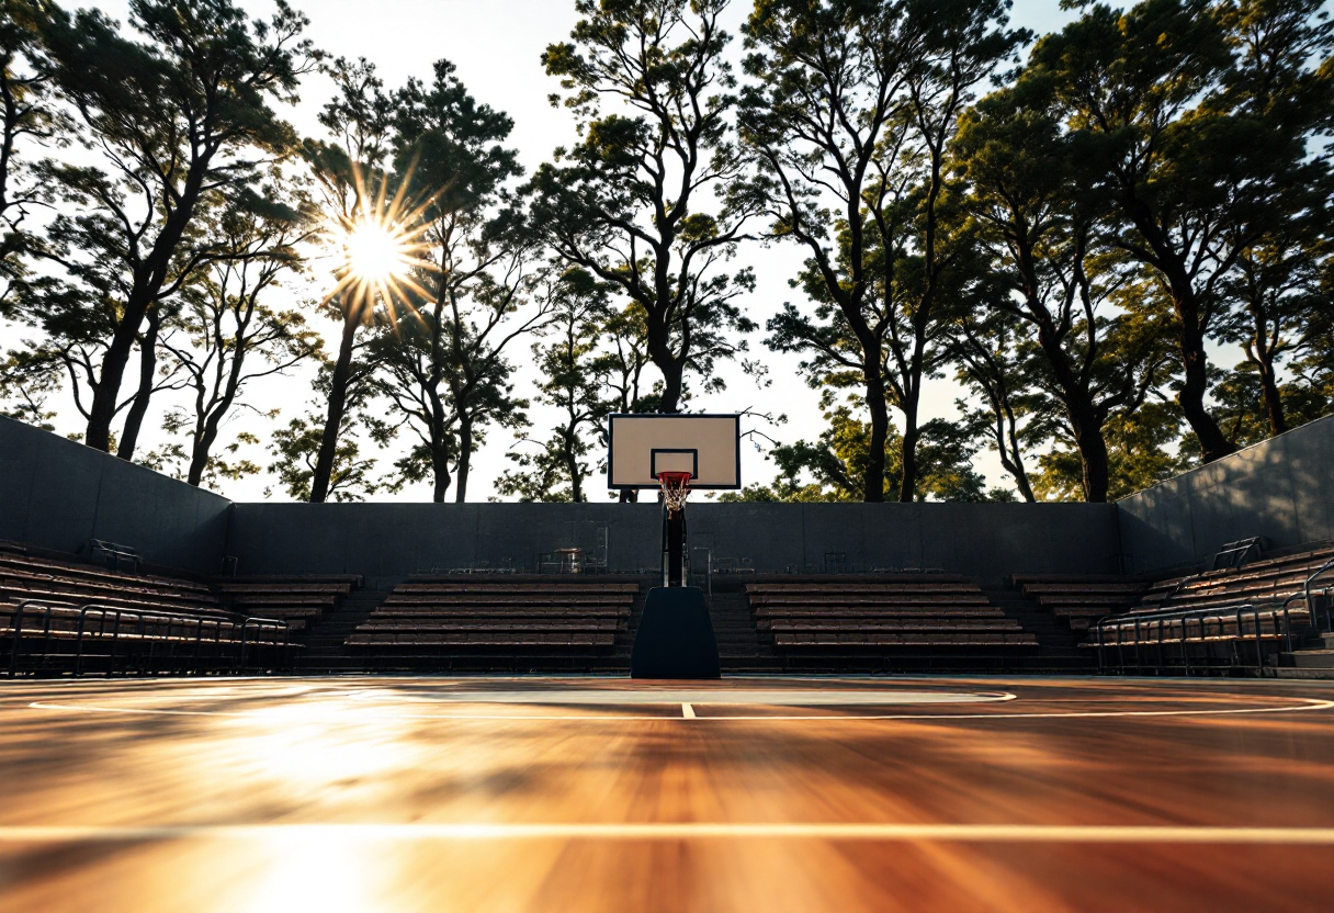
[[[1263,535],[1281,549],[1334,539],[1334,416],[1117,502],[1127,570],[1213,557]]]

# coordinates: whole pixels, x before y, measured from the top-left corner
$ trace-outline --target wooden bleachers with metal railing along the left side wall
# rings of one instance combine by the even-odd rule
[[[11,674],[24,663],[55,671],[236,670],[259,654],[276,666],[285,663],[287,646],[284,625],[228,611],[207,583],[0,546],[0,661]]]

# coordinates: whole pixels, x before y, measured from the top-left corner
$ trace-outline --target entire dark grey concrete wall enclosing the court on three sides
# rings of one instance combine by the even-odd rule
[[[599,547],[612,570],[658,566],[660,515],[646,505],[229,505],[140,466],[0,418],[0,538],[77,551],[123,542],[155,565],[243,574],[415,571],[510,563]],[[692,503],[691,545],[759,571],[943,567],[998,581],[1014,571],[1151,571],[1263,535],[1270,547],[1334,539],[1334,418],[1321,419],[1117,505]]]

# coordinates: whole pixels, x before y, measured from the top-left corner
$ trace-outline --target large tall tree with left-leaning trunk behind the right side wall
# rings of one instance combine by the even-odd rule
[[[1101,163],[1117,212],[1110,242],[1149,267],[1171,300],[1177,402],[1206,462],[1235,450],[1206,403],[1222,286],[1241,254],[1293,211],[1285,198],[1306,192],[1315,125],[1286,107],[1267,116],[1241,103],[1221,9],[1209,0],[1145,0],[1125,13],[1093,7],[1038,43],[1021,80],[1034,97],[1050,93]]]

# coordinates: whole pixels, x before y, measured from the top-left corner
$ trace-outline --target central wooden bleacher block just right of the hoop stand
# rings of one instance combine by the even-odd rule
[[[846,578],[843,578],[846,581]],[[783,650],[1037,646],[1018,621],[959,575],[867,582],[756,582],[746,594],[759,630]]]

